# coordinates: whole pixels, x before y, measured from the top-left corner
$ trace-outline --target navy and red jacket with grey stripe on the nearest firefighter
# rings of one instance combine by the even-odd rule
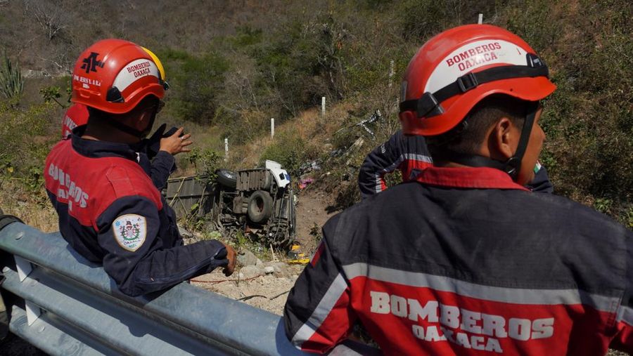
[[[388,355],[633,352],[633,233],[490,168],[430,167],[323,228],[284,310],[325,352],[359,320]]]

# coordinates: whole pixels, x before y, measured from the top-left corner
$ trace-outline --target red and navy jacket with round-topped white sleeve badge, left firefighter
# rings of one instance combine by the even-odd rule
[[[44,168],[61,235],[84,258],[103,264],[130,296],[165,289],[228,262],[226,248],[216,240],[183,245],[174,211],[139,157],[129,145],[73,134],[53,147]],[[136,235],[120,232],[116,223],[127,221],[138,224]],[[130,236],[130,241],[121,238]]]

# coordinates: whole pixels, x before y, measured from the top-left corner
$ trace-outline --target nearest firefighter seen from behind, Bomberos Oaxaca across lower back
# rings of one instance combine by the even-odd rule
[[[434,166],[323,228],[284,310],[300,349],[359,321],[387,355],[633,352],[633,234],[523,187],[544,132],[545,63],[515,34],[466,25],[409,62],[400,121]]]

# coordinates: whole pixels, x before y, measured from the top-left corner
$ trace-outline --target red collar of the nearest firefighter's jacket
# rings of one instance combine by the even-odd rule
[[[508,173],[488,167],[428,167],[418,173],[416,181],[428,185],[471,189],[516,189],[528,188],[513,182]]]

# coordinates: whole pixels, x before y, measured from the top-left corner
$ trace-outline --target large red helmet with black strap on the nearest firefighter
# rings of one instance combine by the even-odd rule
[[[409,62],[400,123],[407,134],[440,135],[488,95],[537,101],[555,89],[545,63],[516,34],[492,25],[459,26],[428,40]]]

